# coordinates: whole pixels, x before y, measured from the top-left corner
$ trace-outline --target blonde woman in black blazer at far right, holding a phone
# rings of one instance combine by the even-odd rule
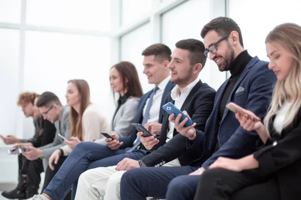
[[[267,115],[263,123],[235,115],[264,145],[240,159],[219,157],[200,176],[195,199],[301,199],[301,26],[280,24],[265,44],[277,76]]]

